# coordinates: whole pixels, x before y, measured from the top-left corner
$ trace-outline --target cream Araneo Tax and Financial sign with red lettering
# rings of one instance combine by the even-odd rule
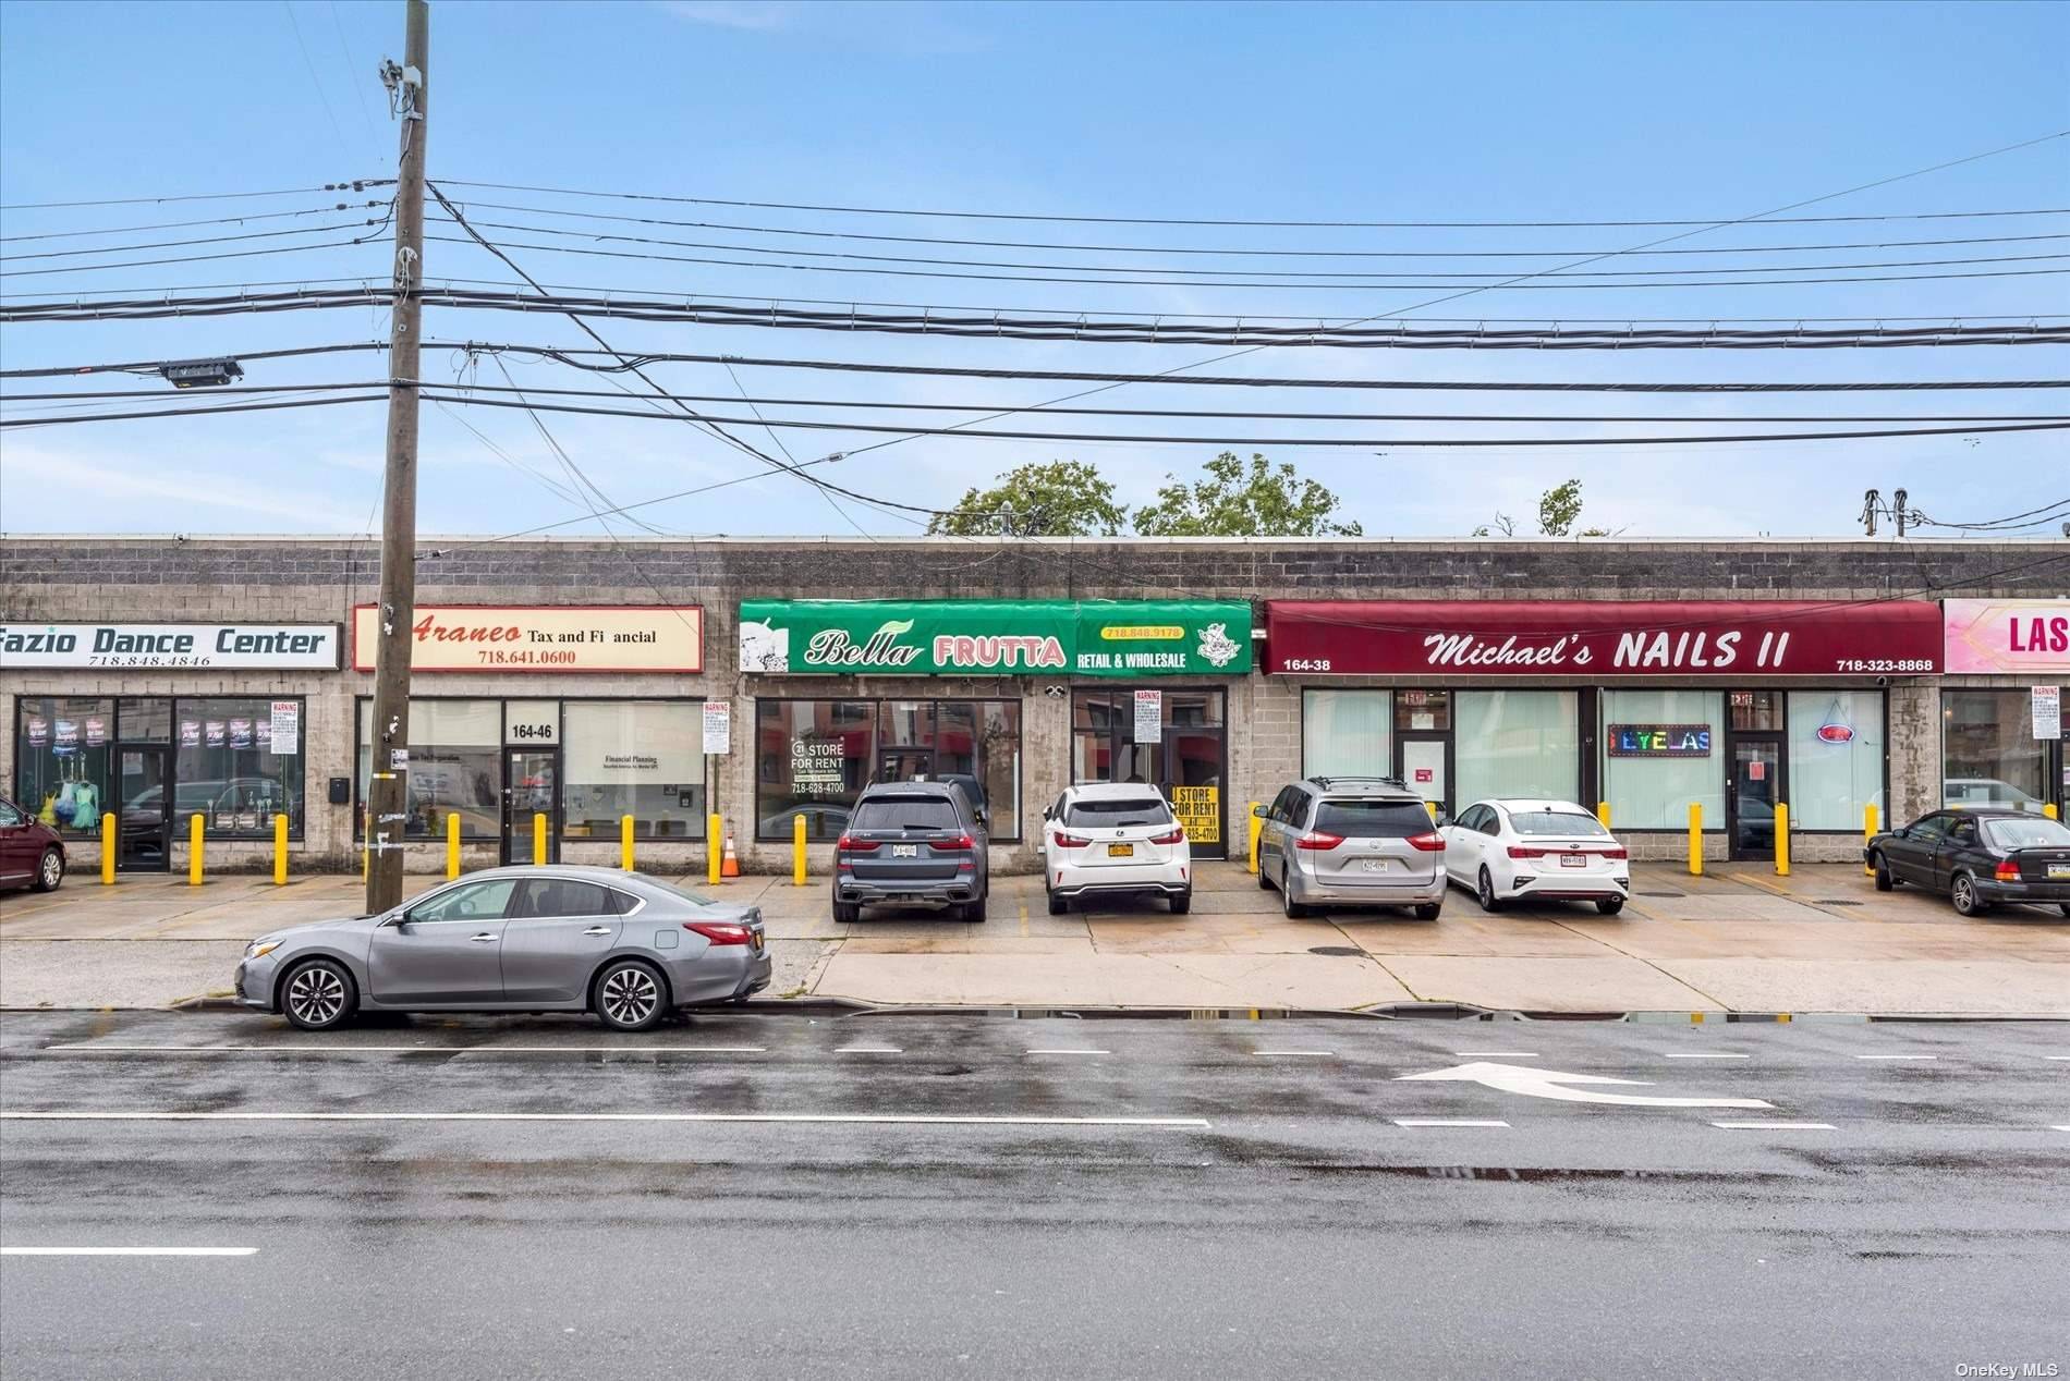
[[[352,669],[373,671],[373,605],[352,611]],[[696,605],[418,605],[410,671],[704,671]]]

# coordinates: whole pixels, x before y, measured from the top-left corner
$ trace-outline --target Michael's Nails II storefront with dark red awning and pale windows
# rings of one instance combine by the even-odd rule
[[[1397,776],[1443,812],[1606,803],[1621,834],[1774,857],[1890,799],[1894,677],[1933,675],[1929,603],[1267,603],[1267,671],[1300,677],[1302,772]],[[1343,677],[1358,677],[1356,683]],[[1372,685],[1381,681],[1381,685]]]

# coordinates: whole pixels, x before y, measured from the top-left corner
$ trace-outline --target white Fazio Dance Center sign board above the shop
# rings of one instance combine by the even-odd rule
[[[0,669],[337,671],[335,623],[0,623]]]

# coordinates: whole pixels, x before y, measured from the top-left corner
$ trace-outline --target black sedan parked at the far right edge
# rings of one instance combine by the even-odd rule
[[[2024,810],[1935,810],[1861,851],[1875,890],[1948,892],[1962,915],[2000,903],[2056,903],[2070,915],[2070,828]]]

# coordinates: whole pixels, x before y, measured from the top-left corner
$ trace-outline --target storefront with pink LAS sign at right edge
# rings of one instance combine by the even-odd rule
[[[1942,803],[2039,812],[2070,803],[2062,687],[2070,681],[2070,600],[1964,600],[1942,607]]]

